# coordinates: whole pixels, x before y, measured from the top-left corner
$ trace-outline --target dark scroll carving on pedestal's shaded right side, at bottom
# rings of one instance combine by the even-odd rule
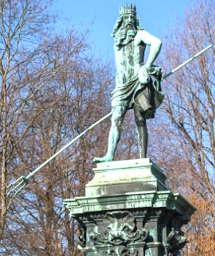
[[[180,236],[179,231],[171,231],[166,238],[168,256],[179,256],[179,249],[182,249],[187,243],[187,238],[185,236]]]

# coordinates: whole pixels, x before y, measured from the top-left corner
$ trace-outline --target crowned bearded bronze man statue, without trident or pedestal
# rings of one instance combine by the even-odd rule
[[[120,17],[112,36],[117,66],[116,88],[112,91],[112,127],[106,156],[95,157],[94,162],[109,162],[114,159],[122,121],[131,108],[138,128],[140,158],[145,158],[148,140],[146,119],[154,118],[155,109],[160,106],[164,97],[160,89],[162,70],[153,65],[162,43],[139,26],[135,5],[120,7]],[[144,65],[146,45],[150,46],[150,51]]]

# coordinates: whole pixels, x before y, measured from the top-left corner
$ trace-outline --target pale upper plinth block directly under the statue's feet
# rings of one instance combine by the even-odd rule
[[[86,196],[168,190],[165,175],[148,158],[103,162],[93,171],[95,177],[86,185]]]

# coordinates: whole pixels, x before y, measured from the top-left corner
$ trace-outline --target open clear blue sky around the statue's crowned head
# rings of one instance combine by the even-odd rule
[[[119,17],[120,5],[136,4],[140,25],[149,33],[160,37],[168,33],[168,25],[175,23],[176,16],[183,17],[185,9],[192,0],[58,0],[53,10],[60,16],[69,18],[62,21],[58,29],[69,28],[71,24],[77,29],[90,28],[89,42],[96,54],[114,61],[113,37],[110,36],[114,23]]]

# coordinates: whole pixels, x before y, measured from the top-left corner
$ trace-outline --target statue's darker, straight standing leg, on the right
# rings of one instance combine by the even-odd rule
[[[140,110],[134,105],[135,121],[138,130],[138,148],[140,158],[146,158],[146,151],[148,145],[148,131],[146,127],[146,119]]]

